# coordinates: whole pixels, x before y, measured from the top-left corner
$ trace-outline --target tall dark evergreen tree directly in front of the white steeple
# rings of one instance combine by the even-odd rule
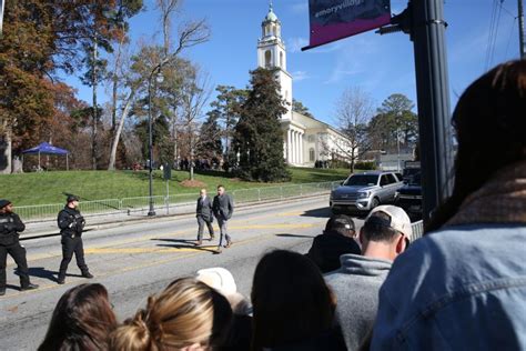
[[[286,112],[274,71],[251,72],[251,89],[235,127],[234,149],[240,156],[239,176],[259,181],[290,179],[283,158],[281,117]]]

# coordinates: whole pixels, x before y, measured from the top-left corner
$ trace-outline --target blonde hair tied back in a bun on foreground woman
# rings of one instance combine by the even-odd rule
[[[212,288],[193,279],[172,282],[148,299],[144,310],[119,327],[110,338],[111,350],[178,350],[209,345],[214,324]]]

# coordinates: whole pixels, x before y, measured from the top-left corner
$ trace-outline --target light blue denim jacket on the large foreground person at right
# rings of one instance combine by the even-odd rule
[[[526,227],[449,227],[399,255],[372,350],[526,350]]]

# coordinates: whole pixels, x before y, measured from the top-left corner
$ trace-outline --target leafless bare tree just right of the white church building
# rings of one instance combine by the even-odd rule
[[[373,116],[373,100],[361,88],[347,88],[336,102],[336,126],[345,138],[332,138],[354,172],[356,161],[371,149],[367,123]]]

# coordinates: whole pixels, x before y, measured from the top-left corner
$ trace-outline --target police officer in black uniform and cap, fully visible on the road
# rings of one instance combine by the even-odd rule
[[[65,280],[65,271],[70,263],[73,252],[77,259],[77,265],[82,272],[82,277],[91,279],[88,265],[84,262],[84,248],[82,245],[82,230],[84,229],[84,218],[80,214],[77,207],[79,205],[79,198],[75,195],[68,195],[67,204],[63,210],[59,212],[59,228],[62,243],[62,262],[60,262],[59,278],[57,282],[63,284]]]

